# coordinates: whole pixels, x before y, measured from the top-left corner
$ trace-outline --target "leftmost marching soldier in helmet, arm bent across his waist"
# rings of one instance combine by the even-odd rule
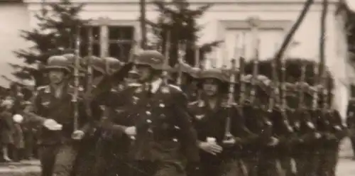
[[[67,83],[70,78],[68,60],[63,56],[52,56],[45,70],[50,84],[38,88],[32,106],[25,113],[28,120],[42,125],[38,137],[41,175],[67,176],[75,172],[77,141],[89,131],[90,125],[81,111],[84,109],[79,107],[79,119],[75,117],[72,101],[75,88]]]

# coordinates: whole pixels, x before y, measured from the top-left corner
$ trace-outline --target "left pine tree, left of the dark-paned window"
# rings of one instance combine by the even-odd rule
[[[38,28],[31,31],[21,31],[21,37],[33,42],[33,47],[15,51],[16,56],[26,63],[13,65],[13,75],[18,79],[34,79],[35,85],[45,83],[41,67],[47,63],[48,57],[62,55],[72,51],[78,26],[84,26],[87,21],[79,18],[83,4],[74,5],[70,0],[50,4],[49,9],[35,15]]]

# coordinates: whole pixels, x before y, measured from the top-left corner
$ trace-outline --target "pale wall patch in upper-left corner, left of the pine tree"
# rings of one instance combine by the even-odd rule
[[[9,62],[22,63],[13,51],[28,47],[29,43],[20,37],[20,30],[28,30],[29,19],[26,4],[0,4],[0,75],[11,77],[13,70]],[[0,86],[8,87],[8,82],[1,77]]]

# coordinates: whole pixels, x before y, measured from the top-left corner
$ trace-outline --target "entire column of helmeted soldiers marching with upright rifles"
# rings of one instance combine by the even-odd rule
[[[42,125],[41,174],[335,175],[346,126],[327,87],[246,75],[244,58],[230,69],[167,60],[50,57],[50,84],[21,112]]]

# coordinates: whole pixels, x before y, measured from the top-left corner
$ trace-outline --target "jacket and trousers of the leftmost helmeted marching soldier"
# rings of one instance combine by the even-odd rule
[[[77,156],[77,145],[72,140],[74,131],[74,104],[72,102],[73,88],[62,87],[60,97],[55,96],[55,89],[50,86],[39,87],[33,97],[31,107],[25,109],[28,120],[42,124],[46,119],[53,119],[62,124],[62,130],[50,131],[44,126],[38,129],[38,144],[40,163],[43,176],[70,175],[74,172]],[[83,108],[79,108],[84,110]],[[84,112],[80,112],[80,128],[86,132],[89,123]]]

